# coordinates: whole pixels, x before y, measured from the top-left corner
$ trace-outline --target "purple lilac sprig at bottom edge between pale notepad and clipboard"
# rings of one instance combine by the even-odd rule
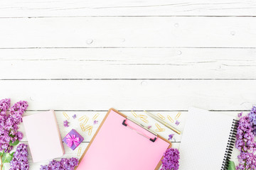
[[[78,166],[77,158],[63,158],[60,162],[52,160],[48,165],[41,165],[40,170],[73,170],[75,166]]]

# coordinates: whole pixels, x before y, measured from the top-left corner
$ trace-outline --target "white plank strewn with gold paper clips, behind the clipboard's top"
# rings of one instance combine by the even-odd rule
[[[27,111],[26,113],[24,113],[24,116],[35,114],[35,113],[38,113],[38,111],[37,112],[36,111]],[[66,113],[65,115],[68,115],[68,118],[63,113]],[[65,135],[67,135],[68,132],[70,132],[70,130],[75,129],[80,133],[80,135],[82,135],[82,137],[85,138],[85,140],[83,142],[90,142],[90,140],[92,139],[93,135],[95,134],[97,128],[99,128],[100,123],[102,122],[106,113],[107,113],[107,111],[55,111],[56,119],[58,122],[58,127],[60,129],[61,138],[65,137]],[[145,127],[151,126],[151,128],[150,128],[151,130],[158,133],[162,137],[165,137],[166,139],[169,138],[170,134],[174,134],[174,139],[171,140],[171,142],[181,142],[182,135],[177,135],[172,130],[169,130],[168,128],[164,127],[164,125],[161,125],[161,123],[159,123],[159,125],[161,125],[161,128],[164,128],[165,131],[157,132],[156,131],[157,128],[155,125],[155,123],[157,123],[156,120],[149,118],[144,113],[144,111],[122,111],[122,113],[129,116],[129,118],[136,120],[138,123],[141,123]],[[181,130],[181,132],[183,132],[183,128],[184,128],[184,125],[186,124],[186,118],[188,115],[187,111],[151,111],[151,113],[154,113],[157,116],[159,116],[158,114],[162,115],[165,118],[165,121],[167,123],[169,123],[170,125],[173,125],[175,128],[177,128],[178,130]],[[178,113],[181,113],[181,115],[178,118],[176,118],[176,115]],[[221,114],[225,114],[225,115],[233,115],[233,116],[237,117],[237,115],[238,115],[238,113],[240,113],[240,111],[216,111],[215,113],[221,113]],[[247,112],[245,112],[245,113],[247,113]],[[72,117],[73,115],[77,115],[77,118],[74,119]],[[93,121],[94,121],[93,118],[96,117],[95,115],[97,115],[97,118],[95,120],[98,121],[96,124],[93,123]],[[138,117],[135,117],[134,115],[138,115]],[[139,118],[139,115],[146,115],[147,118],[145,118],[145,119],[147,120],[147,122],[145,122],[145,120],[142,120],[141,118]],[[87,118],[88,118],[88,121],[85,125],[92,125],[92,127],[93,127],[91,135],[89,135],[87,131],[83,132],[80,128],[81,121],[79,120],[79,118],[81,118],[82,116],[87,116]],[[170,116],[171,119],[174,120],[174,122],[171,122],[171,120],[169,120],[168,116]],[[68,122],[69,122],[68,128],[65,128],[63,126],[64,120],[68,120]],[[175,124],[176,120],[178,120],[178,122],[180,123],[179,125]],[[23,123],[21,123],[19,131],[23,132],[23,134],[26,134],[25,130],[23,128]],[[22,142],[27,142],[26,135],[24,135]]]

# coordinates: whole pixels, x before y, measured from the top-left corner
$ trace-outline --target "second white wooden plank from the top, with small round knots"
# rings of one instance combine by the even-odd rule
[[[255,22],[255,17],[1,18],[0,48],[255,47]]]

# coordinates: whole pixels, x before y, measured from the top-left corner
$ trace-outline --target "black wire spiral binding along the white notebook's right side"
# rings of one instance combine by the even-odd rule
[[[230,135],[228,137],[228,144],[227,144],[227,147],[226,147],[226,150],[225,150],[223,164],[222,164],[220,170],[228,169],[228,164],[230,162],[230,157],[231,157],[231,154],[232,154],[232,151],[233,151],[233,147],[235,145],[235,135],[238,132],[238,123],[239,123],[239,120],[233,119],[232,127],[231,127],[231,130],[230,130]]]

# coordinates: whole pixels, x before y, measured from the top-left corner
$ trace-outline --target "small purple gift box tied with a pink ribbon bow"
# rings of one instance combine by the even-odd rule
[[[78,145],[80,145],[80,143],[84,140],[84,138],[74,129],[71,130],[68,135],[66,135],[63,138],[63,142],[65,142],[65,144],[70,147],[71,149],[75,149],[76,147],[78,147]]]

